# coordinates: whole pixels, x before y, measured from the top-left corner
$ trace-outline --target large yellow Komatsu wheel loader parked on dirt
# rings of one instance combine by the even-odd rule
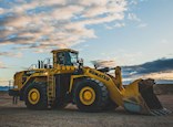
[[[63,108],[75,104],[81,112],[101,112],[121,106],[130,113],[166,115],[153,93],[153,80],[136,80],[122,85],[121,67],[83,66],[78,51],[53,50],[53,61],[14,74],[9,95],[19,97],[30,109]],[[114,70],[114,75],[109,72]]]

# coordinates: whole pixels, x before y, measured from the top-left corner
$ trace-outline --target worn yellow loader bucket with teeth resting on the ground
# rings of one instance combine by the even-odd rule
[[[150,115],[166,115],[171,112],[163,108],[153,92],[154,80],[138,80],[125,87],[124,92],[124,108],[129,112],[150,114]]]

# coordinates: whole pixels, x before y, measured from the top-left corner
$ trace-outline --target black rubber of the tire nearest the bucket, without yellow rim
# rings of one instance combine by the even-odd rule
[[[95,99],[91,105],[84,105],[80,100],[80,91],[85,86],[93,88],[95,92]],[[105,85],[103,85],[99,81],[91,80],[91,78],[86,78],[78,83],[73,91],[74,103],[77,104],[78,108],[82,112],[90,112],[90,113],[101,112],[108,104],[108,98],[109,98],[109,93]]]

